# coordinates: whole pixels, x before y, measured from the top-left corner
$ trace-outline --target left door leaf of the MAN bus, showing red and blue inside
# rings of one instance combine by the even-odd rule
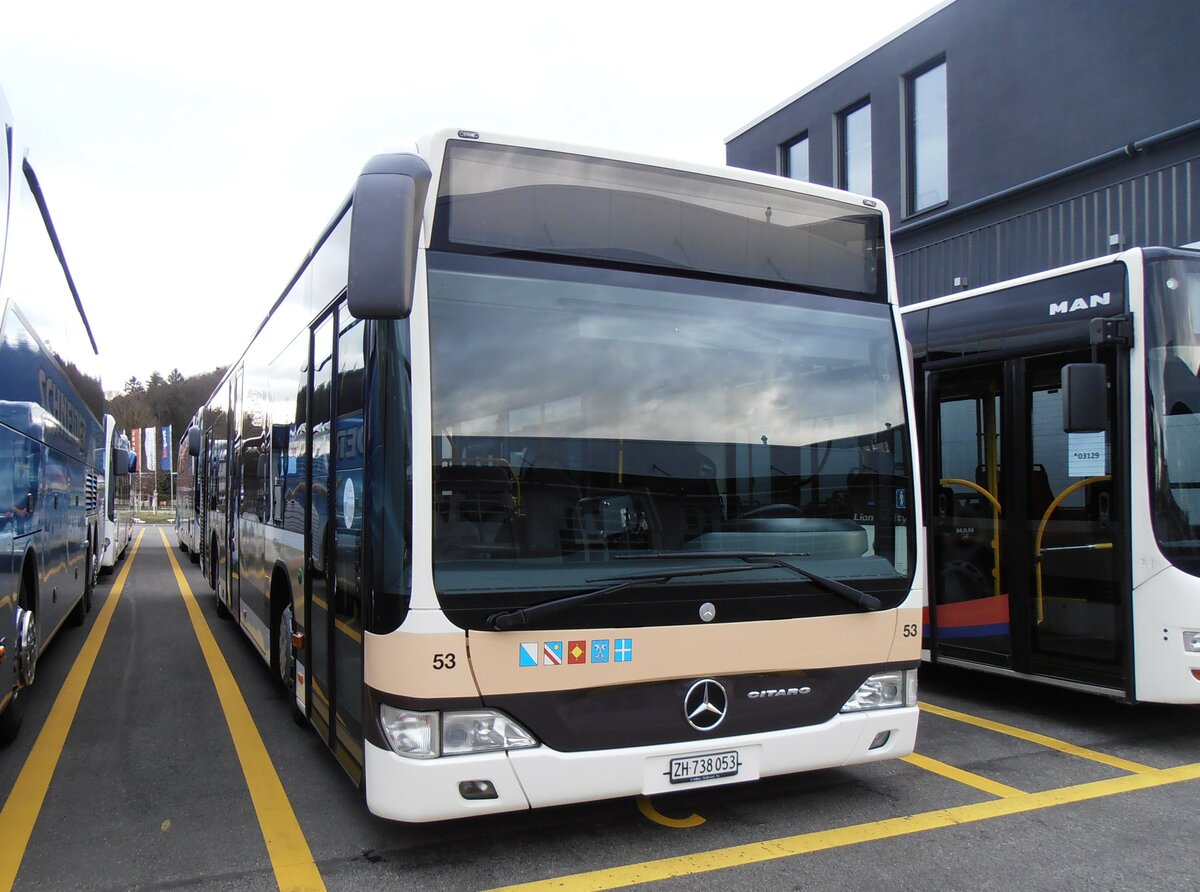
[[[1003,369],[929,376],[930,624],[937,658],[1009,667],[1012,617],[1001,490]],[[936,448],[935,448],[936,447]]]

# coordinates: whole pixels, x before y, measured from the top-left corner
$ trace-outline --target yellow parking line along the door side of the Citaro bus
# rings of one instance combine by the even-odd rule
[[[324,890],[325,882],[312,860],[312,851],[283,790],[283,783],[275,771],[275,764],[250,714],[250,707],[246,706],[246,700],[238,688],[229,664],[221,654],[216,639],[212,637],[212,631],[200,615],[200,605],[197,604],[184,571],[179,569],[175,555],[167,541],[167,534],[161,529],[158,533],[162,535],[163,545],[167,546],[167,557],[170,558],[170,567],[175,571],[175,582],[179,585],[180,594],[184,595],[192,628],[200,642],[200,651],[204,652],[204,661],[208,663],[212,684],[217,689],[217,698],[221,700],[234,748],[238,750],[238,760],[241,762],[242,774],[246,776],[250,798],[258,815],[258,826],[263,831],[263,842],[266,843],[266,852],[271,858],[275,879],[281,890]]]

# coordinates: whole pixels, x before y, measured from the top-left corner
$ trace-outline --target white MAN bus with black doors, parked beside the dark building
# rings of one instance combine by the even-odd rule
[[[1200,702],[1200,252],[1139,249],[904,310],[926,657]]]

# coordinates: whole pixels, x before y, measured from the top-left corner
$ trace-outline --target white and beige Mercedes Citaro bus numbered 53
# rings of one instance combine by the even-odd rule
[[[190,432],[205,574],[370,809],[908,754],[887,211],[445,132],[371,160]]]

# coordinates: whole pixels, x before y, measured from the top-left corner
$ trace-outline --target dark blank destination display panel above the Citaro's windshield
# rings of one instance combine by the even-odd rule
[[[644,267],[887,303],[883,216],[812,194],[451,140],[434,250]]]

